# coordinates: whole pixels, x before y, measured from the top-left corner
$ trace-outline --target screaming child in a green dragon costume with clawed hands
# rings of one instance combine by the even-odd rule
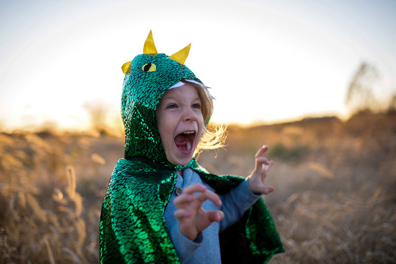
[[[268,147],[247,180],[210,174],[193,158],[220,145],[222,132],[206,130],[212,97],[184,66],[188,52],[159,54],[150,31],[143,54],[122,67],[125,159],[103,202],[101,263],[263,263],[283,252],[260,199],[274,190],[263,185]]]

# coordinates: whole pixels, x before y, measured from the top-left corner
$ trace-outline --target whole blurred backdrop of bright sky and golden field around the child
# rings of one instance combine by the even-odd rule
[[[396,263],[393,0],[1,1],[2,263],[97,263],[123,157],[121,66],[153,31],[216,98],[226,147],[198,161],[247,176],[286,252],[270,263]],[[235,238],[237,239],[237,238]]]

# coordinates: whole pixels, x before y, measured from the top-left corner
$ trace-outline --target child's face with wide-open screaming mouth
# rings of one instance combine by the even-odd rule
[[[157,119],[168,161],[175,165],[187,164],[204,127],[197,89],[186,83],[167,90],[157,107]]]

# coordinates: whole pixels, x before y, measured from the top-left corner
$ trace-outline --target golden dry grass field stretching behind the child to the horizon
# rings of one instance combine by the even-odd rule
[[[285,253],[270,263],[396,263],[396,114],[238,128],[198,161],[246,176],[263,144],[264,199]],[[99,216],[123,138],[0,133],[0,263],[98,263]],[[237,238],[235,238],[237,239]]]

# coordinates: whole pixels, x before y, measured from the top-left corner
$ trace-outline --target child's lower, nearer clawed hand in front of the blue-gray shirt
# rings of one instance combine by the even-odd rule
[[[202,208],[205,200],[211,200],[217,206],[222,205],[220,197],[201,184],[187,186],[183,194],[174,199],[177,210],[173,214],[179,222],[180,232],[192,241],[212,222],[220,222],[224,218],[220,210],[205,211]]]

